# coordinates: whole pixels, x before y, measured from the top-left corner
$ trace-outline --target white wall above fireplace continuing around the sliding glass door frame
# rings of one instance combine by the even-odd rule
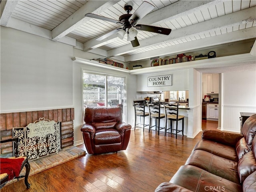
[[[1,113],[74,107],[74,143],[81,143],[81,68],[89,67],[75,64],[72,57],[100,56],[1,26]],[[130,98],[136,96],[136,76],[95,67],[91,70],[127,75],[127,123],[132,124]]]

